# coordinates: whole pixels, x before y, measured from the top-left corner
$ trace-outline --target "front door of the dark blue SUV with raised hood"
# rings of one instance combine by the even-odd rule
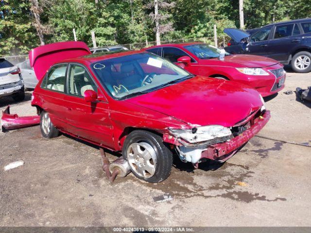
[[[269,55],[269,43],[271,38],[271,27],[265,27],[250,36],[249,43],[245,48],[245,53],[268,56]]]

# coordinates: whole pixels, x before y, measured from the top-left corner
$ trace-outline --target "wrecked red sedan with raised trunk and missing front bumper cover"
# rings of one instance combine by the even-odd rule
[[[89,53],[82,42],[30,52],[41,133],[121,151],[147,182],[170,175],[173,153],[195,167],[226,161],[270,118],[249,86],[192,75],[149,52]]]

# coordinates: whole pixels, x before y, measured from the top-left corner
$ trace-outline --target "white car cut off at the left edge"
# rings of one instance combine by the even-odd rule
[[[20,69],[0,58],[0,97],[12,96],[15,101],[25,98],[24,81]]]

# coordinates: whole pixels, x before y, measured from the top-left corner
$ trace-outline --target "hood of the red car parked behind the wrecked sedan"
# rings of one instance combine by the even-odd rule
[[[218,59],[218,58],[213,58]],[[246,55],[246,54],[234,54],[225,56],[225,62],[230,62],[232,67],[270,67],[278,62],[274,59],[257,56],[257,55]],[[228,64],[226,64],[228,66]]]

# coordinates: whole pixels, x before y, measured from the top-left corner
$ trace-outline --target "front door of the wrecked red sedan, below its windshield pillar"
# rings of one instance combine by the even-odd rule
[[[102,100],[86,102],[84,99],[86,90],[94,90],[98,95],[102,95],[86,67],[70,64],[65,98],[65,104],[68,106],[66,118],[69,133],[104,147],[113,148],[109,104]]]

